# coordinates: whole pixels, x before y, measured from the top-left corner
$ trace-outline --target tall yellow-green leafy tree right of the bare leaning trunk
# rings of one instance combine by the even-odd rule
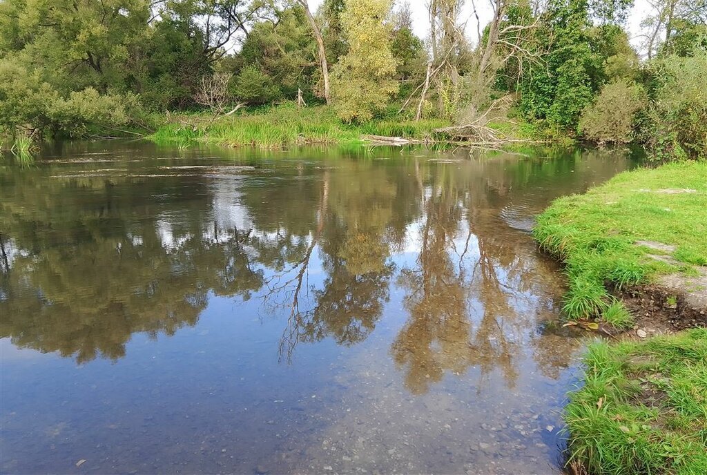
[[[341,14],[349,52],[332,69],[332,98],[339,117],[365,121],[398,90],[390,49],[392,0],[346,0]]]

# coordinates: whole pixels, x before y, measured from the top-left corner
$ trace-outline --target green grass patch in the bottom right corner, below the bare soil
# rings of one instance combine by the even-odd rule
[[[707,329],[595,343],[584,362],[565,411],[575,472],[707,474]]]

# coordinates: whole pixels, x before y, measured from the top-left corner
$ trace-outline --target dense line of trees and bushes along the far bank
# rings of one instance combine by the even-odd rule
[[[344,123],[443,119],[475,143],[510,117],[544,139],[706,155],[706,0],[653,2],[642,56],[631,0],[490,0],[473,39],[462,3],[431,0],[422,39],[392,0],[0,1],[0,127],[124,134],[296,101]]]

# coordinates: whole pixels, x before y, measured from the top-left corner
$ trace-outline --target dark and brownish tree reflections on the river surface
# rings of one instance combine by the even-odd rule
[[[409,315],[390,353],[411,392],[472,367],[498,369],[513,387],[529,345],[556,374],[573,344],[558,353],[535,332],[537,314],[556,310],[551,268],[504,216],[513,206],[532,216],[617,164],[594,160],[588,174],[573,172],[588,166],[578,156],[401,155],[269,165],[238,180],[218,168],[137,179],[94,176],[92,165],[63,178],[47,174],[66,165],[10,169],[0,177],[0,336],[79,363],[116,360],[136,332],[197,324],[210,295],[255,297],[284,322],[280,358],[290,360],[298,343],[364,341],[397,312],[394,286]]]

